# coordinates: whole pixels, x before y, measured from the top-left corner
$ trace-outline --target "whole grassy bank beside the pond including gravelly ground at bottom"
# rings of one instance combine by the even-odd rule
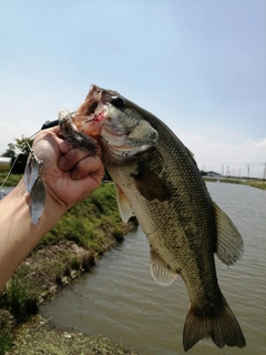
[[[135,225],[134,219],[121,221],[113,183],[66,212],[0,292],[0,355],[35,354],[39,347],[49,354],[137,355],[100,335],[50,328],[39,313],[42,303],[89,273]]]

